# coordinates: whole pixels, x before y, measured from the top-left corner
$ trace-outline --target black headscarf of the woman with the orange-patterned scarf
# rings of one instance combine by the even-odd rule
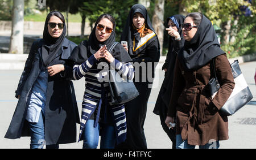
[[[151,29],[151,31],[155,32],[154,28],[152,27],[150,18],[147,14],[146,7],[144,7],[143,5],[140,5],[140,4],[133,5],[131,7],[128,18],[126,20],[126,25],[123,28],[123,32],[122,32],[122,35],[121,35],[121,41],[127,41],[127,43],[128,43],[128,49],[129,49],[129,54],[130,55],[136,55],[141,50],[143,50],[144,47],[146,47],[146,45],[144,45],[143,47],[141,47],[140,50],[137,50],[135,53],[133,53],[133,40],[134,40],[134,38],[135,38],[135,46],[137,46],[136,43],[138,43],[138,41],[141,38],[137,29],[133,29],[133,15],[136,12],[139,12],[143,15],[143,17],[145,19],[145,23],[146,23],[146,28]],[[156,36],[156,38],[157,38],[157,36]],[[160,51],[159,40],[158,40],[158,49]]]

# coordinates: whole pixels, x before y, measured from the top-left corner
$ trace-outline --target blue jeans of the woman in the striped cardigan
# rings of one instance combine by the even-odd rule
[[[100,148],[114,148],[115,146],[115,131],[114,126],[108,126],[105,124],[97,124],[93,127],[94,120],[89,119],[85,123],[84,133],[82,133],[84,143],[82,148],[97,148],[98,138],[100,136],[100,127],[101,127],[101,144]]]

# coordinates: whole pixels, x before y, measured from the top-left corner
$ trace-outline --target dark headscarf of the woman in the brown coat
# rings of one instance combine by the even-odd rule
[[[212,23],[203,15],[195,36],[191,41],[185,41],[178,58],[186,70],[197,70],[224,53],[220,49]]]

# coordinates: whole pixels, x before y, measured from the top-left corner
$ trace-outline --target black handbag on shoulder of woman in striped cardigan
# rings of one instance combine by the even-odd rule
[[[109,53],[113,50],[118,42],[114,42],[109,49]],[[114,68],[109,70],[109,88],[110,88],[110,105],[119,105],[129,102],[139,96],[139,92],[133,81],[123,79]]]

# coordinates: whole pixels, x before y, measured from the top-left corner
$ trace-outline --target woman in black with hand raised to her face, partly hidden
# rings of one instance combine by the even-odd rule
[[[174,15],[170,18],[167,18],[167,23],[169,28],[166,30],[170,35],[169,39],[169,49],[166,57],[166,62],[163,64],[162,70],[165,71],[165,77],[163,80],[162,87],[158,94],[158,99],[156,100],[154,113],[160,116],[160,121],[164,131],[170,137],[172,141],[172,148],[175,148],[175,131],[174,129],[168,129],[164,120],[166,120],[167,110],[170,102],[171,92],[172,92],[172,82],[174,79],[174,66],[181,47],[184,45],[184,38],[181,30],[181,24],[185,16],[183,15]]]

